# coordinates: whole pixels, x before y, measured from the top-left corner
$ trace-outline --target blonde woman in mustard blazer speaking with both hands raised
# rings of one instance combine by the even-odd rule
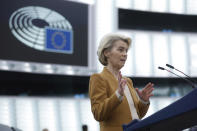
[[[89,97],[101,131],[122,131],[123,124],[144,117],[153,96],[152,83],[139,90],[130,78],[122,77],[130,46],[131,39],[120,34],[108,34],[99,44],[97,54],[104,68],[90,77]]]

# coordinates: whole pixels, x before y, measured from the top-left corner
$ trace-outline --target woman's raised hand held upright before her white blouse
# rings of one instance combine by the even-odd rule
[[[122,78],[121,72],[118,74],[118,93],[123,96],[124,95],[124,88],[127,83],[127,80]]]

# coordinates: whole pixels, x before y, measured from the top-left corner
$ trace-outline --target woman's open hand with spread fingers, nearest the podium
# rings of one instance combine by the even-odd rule
[[[138,88],[136,88],[139,97],[144,101],[149,101],[149,98],[153,96],[153,86],[154,84],[149,82],[141,91]]]

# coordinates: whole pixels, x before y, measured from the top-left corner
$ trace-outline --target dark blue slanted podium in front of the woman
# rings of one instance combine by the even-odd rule
[[[197,125],[197,88],[143,119],[123,125],[124,131],[180,131]]]

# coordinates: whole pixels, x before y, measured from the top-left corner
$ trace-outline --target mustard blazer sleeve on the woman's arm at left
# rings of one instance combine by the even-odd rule
[[[99,74],[90,77],[89,97],[94,118],[97,121],[107,120],[111,112],[121,103],[115,92],[108,96],[109,86]]]

